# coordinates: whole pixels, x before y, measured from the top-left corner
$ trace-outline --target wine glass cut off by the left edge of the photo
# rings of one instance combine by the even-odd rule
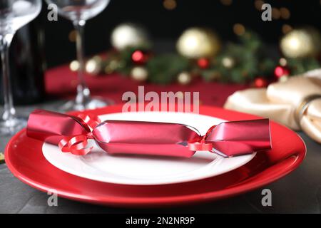
[[[0,1],[0,52],[4,87],[4,114],[0,120],[0,135],[13,135],[26,126],[26,119],[19,118],[14,108],[9,76],[9,47],[16,31],[35,19],[40,11],[41,0]]]

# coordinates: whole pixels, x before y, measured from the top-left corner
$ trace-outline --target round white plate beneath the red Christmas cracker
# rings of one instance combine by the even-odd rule
[[[202,135],[212,125],[218,125],[224,121],[193,113],[113,113],[99,117],[101,120],[183,123],[198,129]],[[63,153],[56,145],[46,142],[42,151],[46,160],[60,170],[91,180],[123,185],[165,185],[200,180],[235,170],[255,156],[253,153],[224,158],[206,151],[196,152],[190,158],[112,156],[96,145],[88,155],[77,156]]]

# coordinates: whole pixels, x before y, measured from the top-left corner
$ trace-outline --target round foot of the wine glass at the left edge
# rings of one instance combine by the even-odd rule
[[[11,120],[0,120],[0,136],[11,136],[26,127],[25,118],[13,118]]]

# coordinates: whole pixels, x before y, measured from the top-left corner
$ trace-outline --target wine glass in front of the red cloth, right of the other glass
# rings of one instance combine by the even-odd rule
[[[91,93],[83,77],[84,74],[84,42],[83,28],[88,19],[100,14],[109,0],[46,0],[48,4],[56,4],[58,14],[73,22],[76,30],[76,51],[79,63],[78,86],[75,100],[70,100],[61,107],[63,111],[95,109],[111,104],[111,100],[91,98]]]

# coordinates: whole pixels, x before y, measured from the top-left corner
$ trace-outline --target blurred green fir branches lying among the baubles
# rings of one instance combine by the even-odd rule
[[[113,51],[108,54],[104,64],[108,65],[116,60],[119,64],[114,71],[128,76],[131,69],[136,66],[131,59],[136,50],[151,53],[151,50],[146,47]],[[252,31],[247,31],[243,36],[239,36],[238,43],[227,43],[218,56],[209,59],[210,66],[206,69],[199,68],[195,60],[189,60],[176,53],[151,56],[144,67],[148,71],[148,81],[156,84],[173,83],[182,71],[198,74],[205,81],[249,83],[259,76],[267,80],[273,78],[280,56],[271,58],[268,52],[268,47],[260,37]],[[225,63],[226,58],[231,61],[230,65]],[[287,59],[287,68],[291,75],[319,67],[320,63],[315,58]]]

